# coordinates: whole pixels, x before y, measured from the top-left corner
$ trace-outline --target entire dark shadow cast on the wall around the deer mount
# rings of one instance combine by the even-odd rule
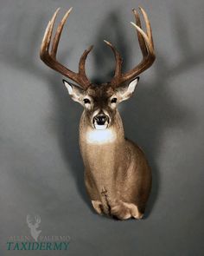
[[[176,17],[173,18],[176,21]],[[124,69],[127,68],[126,63],[131,61],[132,58],[128,51],[130,46],[124,40],[126,37],[123,27],[124,21],[119,12],[109,13],[104,20],[105,22],[101,24],[98,30],[99,32],[96,35],[96,48],[92,51],[92,73],[94,74],[92,81],[98,83],[109,81],[112,77],[114,67],[114,58],[111,50],[106,45],[97,47],[103,39],[110,40],[118,48],[118,51],[121,52],[124,58]],[[177,21],[179,24],[173,24],[174,27],[181,28],[182,26],[182,30],[184,30],[185,23],[178,19]],[[17,26],[17,31],[19,31],[21,24],[25,22],[23,16],[19,16],[18,21],[15,23],[12,22],[12,26]],[[61,154],[67,163],[68,170],[70,170],[76,181],[81,197],[92,209],[90,200],[86,195],[83,163],[78,146],[78,127],[82,109],[79,105],[71,102],[66,89],[62,85],[61,75],[57,75],[51,70],[43,73],[41,66],[37,64],[37,62],[41,62],[38,53],[40,45],[36,45],[36,42],[40,41],[38,39],[42,37],[39,27],[44,27],[47,22],[48,20],[41,16],[35,23],[35,26],[29,30],[30,35],[28,35],[28,30],[22,30],[21,37],[15,36],[15,34],[13,37],[11,36],[13,40],[17,38],[20,41],[22,45],[21,50],[18,47],[16,49],[8,49],[8,46],[5,45],[6,50],[3,52],[1,61],[9,63],[10,66],[16,69],[26,70],[31,75],[40,76],[45,82],[45,86],[48,86],[53,93],[53,115],[54,121],[56,121],[54,131],[58,137]],[[187,33],[188,30],[186,29],[185,31]],[[153,186],[146,216],[150,214],[158,199],[162,170],[158,169],[156,162],[159,152],[162,150],[160,147],[164,132],[169,128],[183,128],[192,121],[190,109],[187,109],[186,106],[183,106],[181,102],[176,100],[175,93],[170,89],[168,79],[169,77],[186,72],[188,69],[194,67],[194,65],[204,61],[201,52],[194,52],[190,48],[190,43],[187,43],[187,34],[182,35],[178,30],[176,36],[178,39],[178,48],[182,48],[182,45],[188,47],[188,49],[185,49],[185,51],[188,50],[188,57],[183,56],[181,62],[171,67],[159,50],[156,50],[156,62],[154,68],[152,68],[155,70],[154,78],[150,84],[144,85],[143,75],[141,75],[142,79],[139,82],[136,95],[129,102],[123,104],[121,113],[124,120],[125,134],[143,148],[152,167]],[[22,41],[24,37],[27,40]],[[16,45],[18,45],[17,40]],[[23,52],[23,57],[22,49],[29,49]],[[137,51],[135,55],[137,56],[137,54],[140,53]],[[67,55],[68,53],[66,55],[65,53],[61,53],[59,57],[61,62],[64,61],[64,57]]]

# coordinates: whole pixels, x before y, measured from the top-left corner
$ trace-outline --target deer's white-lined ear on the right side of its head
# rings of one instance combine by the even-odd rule
[[[132,80],[128,85],[121,86],[117,89],[117,95],[119,102],[123,102],[131,97],[134,90],[136,89],[139,76]]]

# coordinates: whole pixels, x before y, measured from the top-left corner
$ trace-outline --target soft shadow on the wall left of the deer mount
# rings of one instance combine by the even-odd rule
[[[78,142],[82,108],[70,99],[67,89],[63,85],[62,75],[57,74],[49,68],[45,72],[42,69],[45,66],[40,60],[39,50],[44,30],[41,31],[39,28],[46,28],[48,18],[39,15],[36,23],[32,23],[33,25],[29,30],[25,30],[25,24],[28,23],[28,18],[28,16],[21,15],[21,11],[19,11],[19,14],[14,16],[10,20],[10,23],[8,23],[8,27],[12,27],[14,32],[8,35],[7,30],[5,30],[5,34],[3,35],[4,41],[1,43],[2,49],[4,49],[1,62],[5,62],[12,69],[20,69],[22,72],[27,72],[32,76],[41,77],[45,86],[48,86],[49,91],[52,92],[54,107],[52,115],[48,117],[52,122],[54,120],[54,130],[52,132],[58,137],[61,155],[67,164],[68,172],[71,172],[76,182],[80,196],[86,201],[90,209],[92,209],[84,185],[83,163],[80,157]],[[25,38],[27,40],[24,40]],[[13,46],[8,45],[8,40],[16,42],[15,49],[12,48]],[[58,59],[61,62],[65,62],[71,49],[68,51],[62,50],[58,55]]]

